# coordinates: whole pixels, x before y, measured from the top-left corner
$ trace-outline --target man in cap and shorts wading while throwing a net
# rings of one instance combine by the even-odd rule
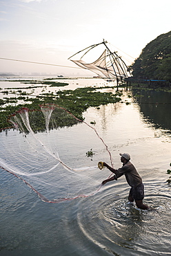
[[[121,162],[123,163],[123,166],[118,170],[115,170],[114,168],[110,167],[107,163],[103,163],[103,166],[107,167],[115,175],[103,181],[102,184],[104,185],[108,181],[117,180],[123,174],[125,174],[126,181],[131,187],[128,200],[130,202],[135,201],[137,207],[140,209],[149,210],[150,208],[148,207],[148,205],[143,204],[144,187],[143,187],[142,179],[141,179],[141,176],[139,176],[134,165],[130,163],[130,155],[128,153],[124,153],[124,154],[120,154],[120,156],[121,156]]]

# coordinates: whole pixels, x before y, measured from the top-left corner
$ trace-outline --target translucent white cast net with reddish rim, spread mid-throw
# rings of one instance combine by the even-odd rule
[[[99,190],[98,168],[90,166],[86,152],[108,147],[94,128],[54,104],[42,105],[41,111],[20,109],[9,121],[15,129],[1,132],[0,166],[41,200],[57,203]],[[93,161],[97,164],[97,154]]]

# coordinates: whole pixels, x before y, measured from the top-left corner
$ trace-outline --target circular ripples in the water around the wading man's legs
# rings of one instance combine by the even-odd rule
[[[147,196],[145,203],[155,205],[154,210],[140,210],[120,196],[100,194],[95,201],[89,201],[83,212],[77,212],[79,229],[103,253],[167,255],[170,196],[153,194]]]

